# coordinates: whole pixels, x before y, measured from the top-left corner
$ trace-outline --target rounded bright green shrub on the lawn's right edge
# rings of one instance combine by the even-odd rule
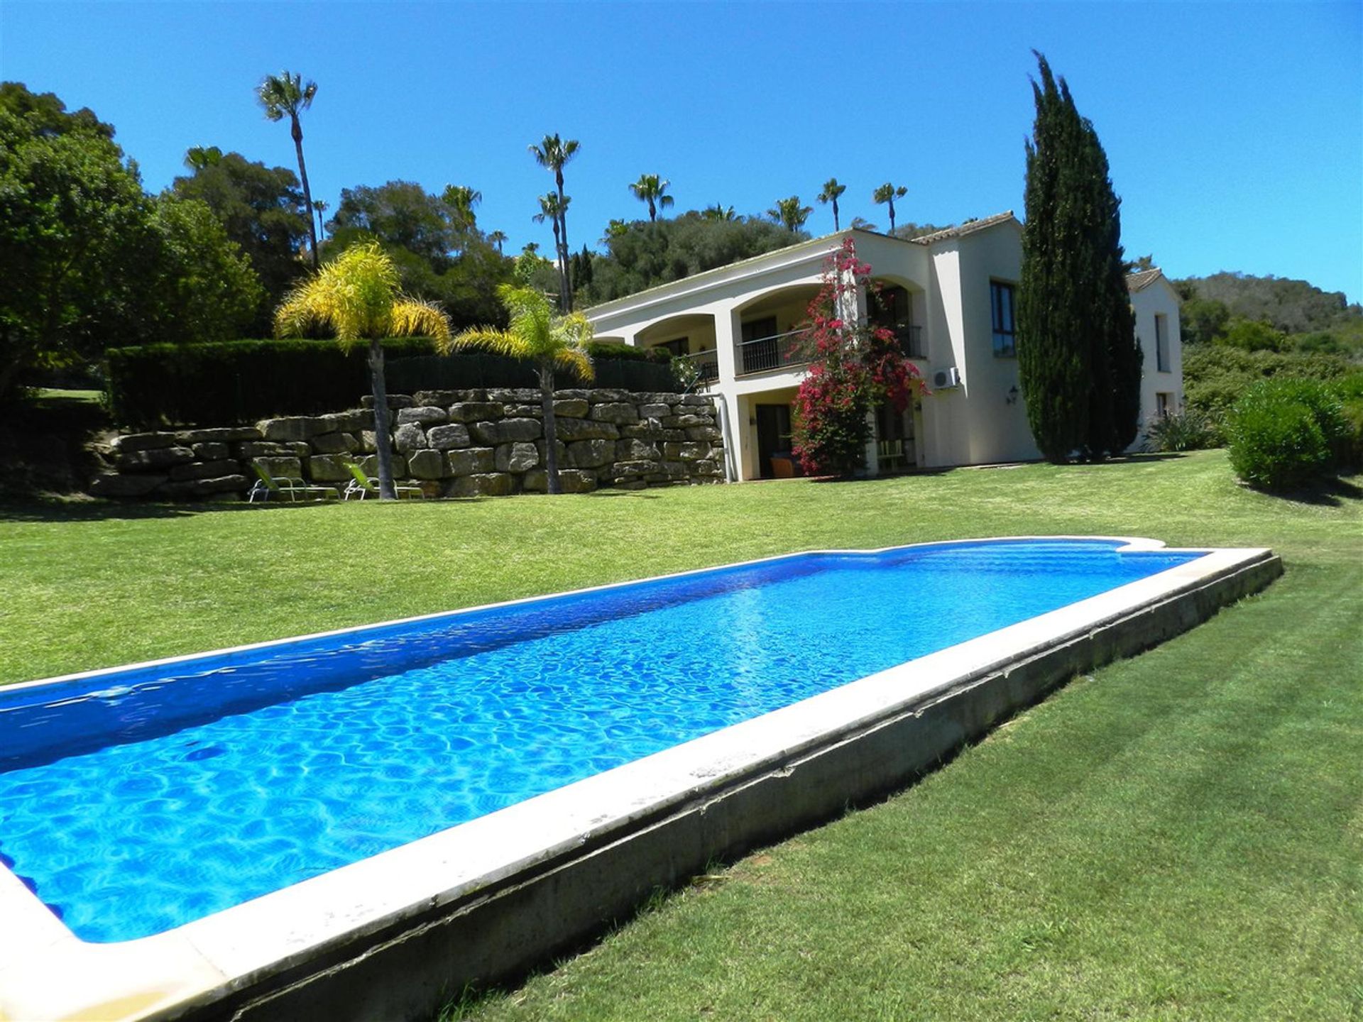
[[[1347,452],[1348,422],[1330,390],[1315,380],[1262,380],[1229,420],[1231,467],[1264,489],[1291,489],[1328,476]]]

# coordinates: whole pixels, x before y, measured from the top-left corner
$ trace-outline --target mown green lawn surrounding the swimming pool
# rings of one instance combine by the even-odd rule
[[[1266,593],[717,869],[480,1019],[1363,1018],[1363,478],[1221,452],[859,484],[0,508],[0,681],[815,546],[1273,546]]]

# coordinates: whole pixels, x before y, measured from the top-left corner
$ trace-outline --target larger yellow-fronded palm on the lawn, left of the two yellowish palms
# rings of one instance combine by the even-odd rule
[[[398,292],[398,268],[378,241],[352,245],[289,292],[274,313],[278,337],[303,337],[315,327],[335,331],[342,350],[369,342],[369,384],[373,388],[373,446],[379,455],[379,496],[395,500],[393,442],[388,432],[388,388],[383,379],[380,339],[425,335],[450,342],[450,320],[435,305]]]

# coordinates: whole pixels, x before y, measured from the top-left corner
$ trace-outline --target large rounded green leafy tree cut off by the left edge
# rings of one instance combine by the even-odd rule
[[[149,215],[110,125],[50,93],[0,89],[0,398],[136,319],[129,274],[155,251]]]

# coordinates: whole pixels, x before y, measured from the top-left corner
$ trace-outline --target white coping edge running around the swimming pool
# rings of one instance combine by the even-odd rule
[[[1198,559],[1096,597],[870,675],[754,719],[724,728],[613,770],[383,852],[164,933],[95,944],[76,938],[11,871],[0,868],[0,1022],[40,1018],[173,1018],[305,963],[357,935],[390,929],[403,917],[468,898],[478,888],[544,864],[669,805],[732,784],[763,763],[856,732],[905,707],[931,702],[962,680],[1006,668],[1105,621],[1159,605],[1221,575],[1272,559],[1266,548],[1165,548],[1131,537],[1047,536],[951,540],[880,551],[801,551],[744,561],[748,567],[806,553],[872,555],[921,546],[1021,540],[1118,540],[1123,551],[1195,552]],[[677,572],[684,578],[714,568]],[[632,585],[622,582],[574,593]],[[563,594],[556,594],[563,595]],[[114,670],[179,665],[207,655],[279,649],[322,636],[451,617],[489,606],[423,615],[211,654],[172,657],[7,687],[34,688],[99,679]]]

